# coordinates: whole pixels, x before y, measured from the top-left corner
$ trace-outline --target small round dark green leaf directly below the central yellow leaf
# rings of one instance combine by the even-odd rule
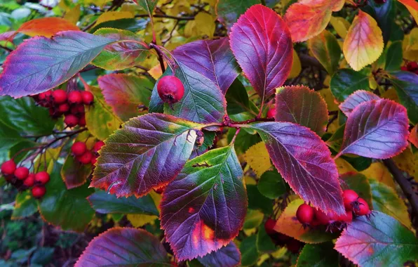
[[[283,177],[275,170],[264,172],[264,174],[262,174],[259,178],[257,188],[259,193],[262,193],[265,197],[274,200],[286,193],[288,186],[283,180]]]

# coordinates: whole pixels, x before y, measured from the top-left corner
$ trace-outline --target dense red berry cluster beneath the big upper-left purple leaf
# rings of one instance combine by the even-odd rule
[[[49,109],[49,114],[53,118],[65,115],[64,122],[69,127],[76,125],[86,126],[84,105],[92,105],[94,101],[93,93],[88,91],[50,90],[34,96],[36,103]]]

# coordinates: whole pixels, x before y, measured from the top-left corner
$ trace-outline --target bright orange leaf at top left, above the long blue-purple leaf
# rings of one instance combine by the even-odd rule
[[[29,20],[20,26],[16,32],[34,37],[36,35],[52,37],[61,31],[80,30],[79,27],[63,18],[37,18]]]

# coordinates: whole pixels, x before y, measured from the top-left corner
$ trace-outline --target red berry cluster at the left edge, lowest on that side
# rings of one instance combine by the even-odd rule
[[[45,184],[49,181],[49,174],[46,171],[40,171],[36,174],[29,173],[27,167],[17,167],[11,159],[1,164],[1,173],[8,183],[19,190],[32,188],[32,195],[35,198],[41,198],[46,193]]]

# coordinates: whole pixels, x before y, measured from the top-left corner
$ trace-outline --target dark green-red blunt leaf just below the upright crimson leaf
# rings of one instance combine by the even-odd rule
[[[321,136],[328,123],[327,103],[320,93],[306,86],[283,86],[276,92],[274,119],[306,126]]]

